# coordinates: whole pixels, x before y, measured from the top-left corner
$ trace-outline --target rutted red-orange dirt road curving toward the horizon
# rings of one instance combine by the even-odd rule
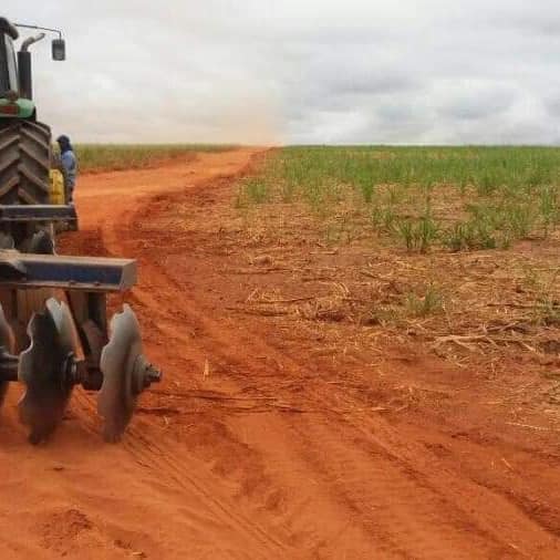
[[[29,446],[11,388],[0,558],[560,558],[558,434],[496,417],[484,372],[396,348],[344,369],[231,311],[249,280],[209,220],[258,152],[82,177],[62,248],[138,258],[127,300],[165,382],[115,446],[80,391]],[[404,383],[419,396],[391,406]]]

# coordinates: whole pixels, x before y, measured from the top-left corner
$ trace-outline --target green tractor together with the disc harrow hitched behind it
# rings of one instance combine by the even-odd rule
[[[19,29],[41,33],[15,52]],[[45,32],[58,35],[52,58],[65,60],[59,30],[0,18],[0,405],[9,384],[22,383],[19,416],[39,444],[81,385],[98,392],[104,438],[117,442],[139,394],[162,373],[144,355],[128,305],[107,321],[107,294],[134,286],[136,262],[56,255],[56,225],[75,222],[76,214],[54,193],[51,131],[33,103],[30,46]]]

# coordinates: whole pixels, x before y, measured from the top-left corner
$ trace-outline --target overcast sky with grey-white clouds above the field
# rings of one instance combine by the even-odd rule
[[[558,0],[2,0],[77,142],[560,144]]]

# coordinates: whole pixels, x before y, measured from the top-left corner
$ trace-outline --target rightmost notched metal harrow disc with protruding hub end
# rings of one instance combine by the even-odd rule
[[[138,395],[162,374],[144,357],[138,321],[128,305],[113,317],[110,331],[101,354],[103,385],[97,411],[105,418],[105,440],[115,443],[131,422]]]

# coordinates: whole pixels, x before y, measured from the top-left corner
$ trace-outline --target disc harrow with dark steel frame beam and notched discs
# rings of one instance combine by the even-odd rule
[[[106,324],[106,294],[127,290],[135,278],[129,259],[0,250],[0,404],[10,383],[24,385],[18,408],[32,444],[56,429],[76,385],[98,392],[104,438],[118,442],[141,393],[160,381],[131,307]],[[22,336],[13,325],[25,313]]]

